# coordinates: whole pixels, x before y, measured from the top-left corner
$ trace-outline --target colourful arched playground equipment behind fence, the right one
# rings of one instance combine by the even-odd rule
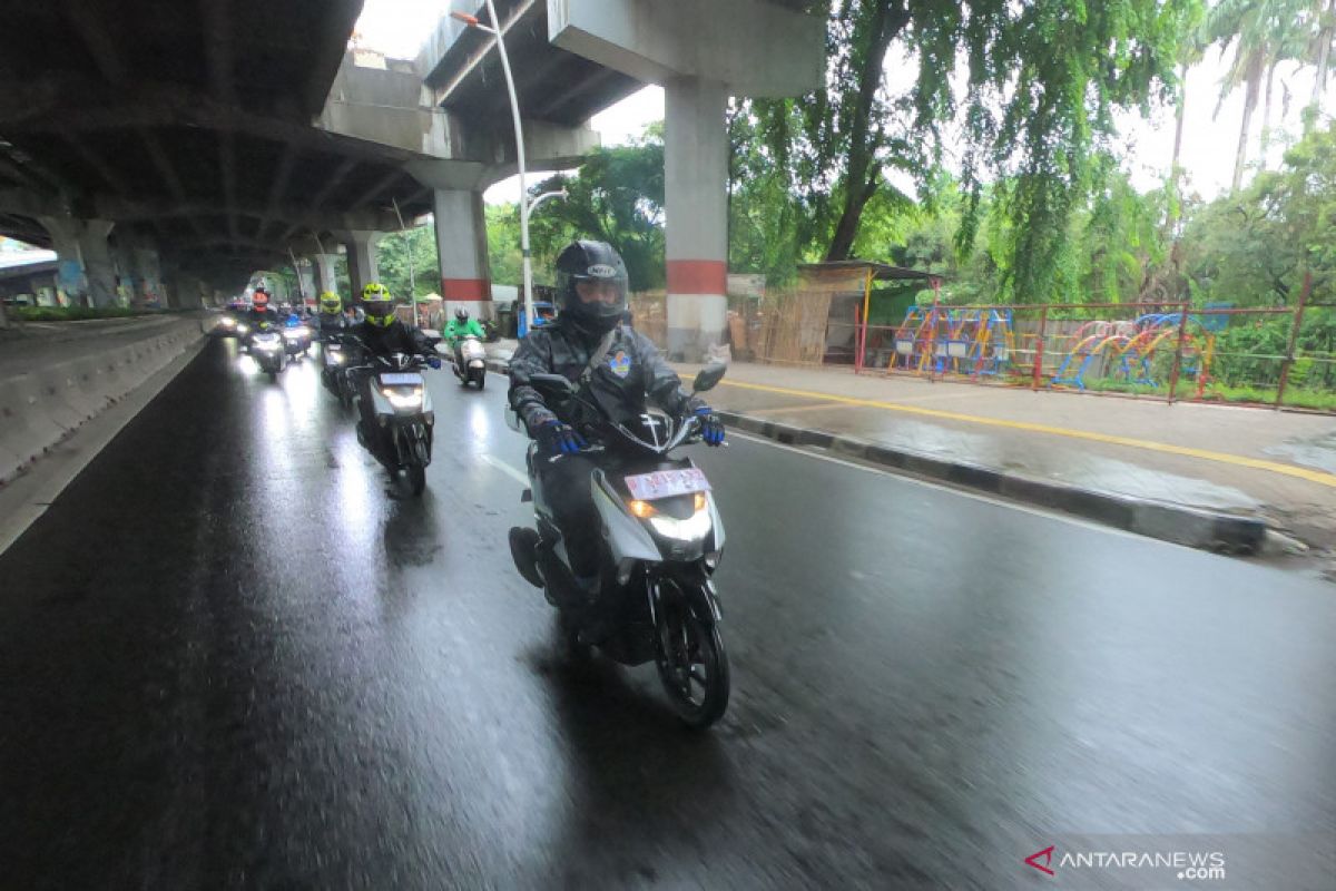
[[[1186,323],[1181,313],[1149,313],[1134,321],[1092,321],[1077,329],[1075,345],[1062,359],[1050,386],[1086,389],[1086,375],[1121,379],[1128,383],[1158,387],[1162,382],[1156,369],[1156,357],[1164,345],[1177,350],[1178,331],[1182,329],[1182,362],[1178,374],[1194,378],[1201,390],[1210,369],[1214,334],[1205,330],[1201,319],[1189,314]]]

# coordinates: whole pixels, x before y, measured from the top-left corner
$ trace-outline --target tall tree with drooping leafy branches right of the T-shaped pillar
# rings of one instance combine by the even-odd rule
[[[959,146],[969,200],[958,246],[979,231],[985,175],[1009,179],[995,196],[1011,223],[1009,287],[1042,299],[1070,212],[1104,179],[1114,112],[1146,108],[1172,84],[1197,9],[1197,0],[836,0],[826,87],[752,108],[828,259],[850,255],[863,210],[890,188],[887,168],[923,183]],[[898,96],[882,79],[892,49],[918,71]]]

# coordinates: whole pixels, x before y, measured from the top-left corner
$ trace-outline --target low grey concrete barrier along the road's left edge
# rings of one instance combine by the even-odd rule
[[[183,318],[147,327],[140,341],[73,358],[52,343],[47,361],[0,379],[0,485],[203,338],[200,321]]]

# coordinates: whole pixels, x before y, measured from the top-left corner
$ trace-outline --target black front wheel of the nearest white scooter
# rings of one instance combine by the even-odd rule
[[[709,727],[728,708],[728,653],[719,628],[705,625],[677,598],[657,616],[655,663],[673,711],[688,727]]]

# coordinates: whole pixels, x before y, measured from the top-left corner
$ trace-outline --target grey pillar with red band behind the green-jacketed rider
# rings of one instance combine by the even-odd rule
[[[445,298],[442,309],[446,318],[460,307],[477,318],[493,318],[482,192],[438,188],[432,199],[432,210],[436,215],[436,255],[441,263],[441,297]]]

